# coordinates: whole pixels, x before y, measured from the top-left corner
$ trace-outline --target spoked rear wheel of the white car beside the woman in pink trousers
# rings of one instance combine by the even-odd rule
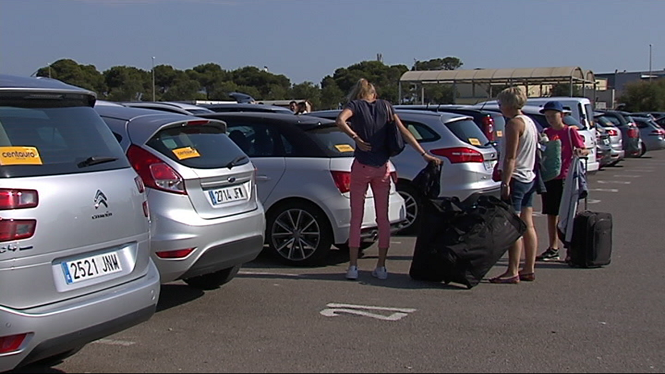
[[[303,201],[280,204],[268,212],[266,221],[266,241],[277,258],[293,266],[323,265],[333,235],[319,207]]]

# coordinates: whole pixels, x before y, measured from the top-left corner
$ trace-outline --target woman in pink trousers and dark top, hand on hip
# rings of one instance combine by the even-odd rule
[[[379,258],[372,276],[388,278],[386,257],[390,247],[390,221],[388,220],[388,202],[390,194],[390,155],[386,146],[387,127],[390,116],[394,118],[404,139],[423,157],[425,162],[442,161],[428,154],[404,127],[399,117],[394,114],[392,105],[385,100],[378,100],[374,85],[366,79],[360,79],[348,96],[349,103],[337,116],[335,123],[349,135],[356,144],[351,166],[351,225],[349,230],[349,268],[346,278],[358,279],[358,248],[360,247],[360,229],[365,213],[365,196],[368,187],[372,188],[376,209],[376,223],[379,229]],[[350,125],[347,124],[350,122]]]

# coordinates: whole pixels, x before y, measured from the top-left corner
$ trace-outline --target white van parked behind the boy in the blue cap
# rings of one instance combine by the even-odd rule
[[[548,101],[560,102],[564,108],[570,109],[572,116],[584,126],[584,129],[579,130],[579,133],[584,138],[584,145],[590,151],[588,171],[598,171],[600,169],[600,162],[596,159],[596,129],[593,123],[593,105],[591,104],[591,100],[586,97],[568,96],[531,97],[527,99],[526,104],[528,106],[543,107]],[[488,105],[496,105],[496,100],[478,103],[474,106],[484,107]]]

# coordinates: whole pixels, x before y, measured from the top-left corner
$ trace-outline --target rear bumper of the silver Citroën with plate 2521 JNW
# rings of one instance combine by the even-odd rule
[[[159,273],[150,261],[145,276],[101,292],[28,310],[0,307],[0,335],[29,334],[18,351],[0,355],[0,372],[77,350],[147,321],[159,292]]]

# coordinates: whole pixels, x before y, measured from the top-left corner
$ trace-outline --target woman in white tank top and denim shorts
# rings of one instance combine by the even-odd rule
[[[499,152],[501,198],[511,204],[526,224],[524,236],[508,250],[508,269],[491,283],[517,284],[535,280],[538,237],[533,225],[533,195],[536,192],[536,149],[538,129],[531,118],[522,113],[526,94],[518,87],[509,87],[497,96],[501,113],[508,118],[505,137]],[[524,252],[524,267],[519,270]]]

